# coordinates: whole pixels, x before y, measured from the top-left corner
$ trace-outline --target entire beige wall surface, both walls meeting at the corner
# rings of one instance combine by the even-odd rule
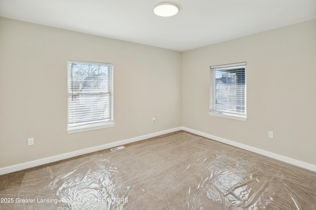
[[[179,126],[316,164],[315,37],[313,20],[181,53],[0,18],[0,168]],[[114,127],[67,134],[68,59],[114,63]],[[209,66],[243,61],[248,120],[209,116]]]

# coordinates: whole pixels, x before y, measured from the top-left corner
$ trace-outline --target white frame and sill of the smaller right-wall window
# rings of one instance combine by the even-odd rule
[[[210,81],[209,81],[209,115],[210,116],[216,116],[216,117],[222,117],[222,118],[229,118],[233,120],[242,120],[247,121],[247,94],[246,94],[246,62],[240,62],[240,63],[232,63],[232,64],[225,64],[225,65],[216,65],[210,67]],[[236,112],[228,112],[223,110],[217,110],[216,109],[216,100],[215,100],[215,94],[216,94],[216,77],[215,72],[216,70],[230,70],[230,69],[238,69],[244,67],[244,77],[245,77],[245,84],[244,84],[244,113],[238,113]]]

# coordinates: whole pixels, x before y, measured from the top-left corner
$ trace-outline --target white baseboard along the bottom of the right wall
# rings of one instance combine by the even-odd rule
[[[215,140],[215,141],[227,144],[227,145],[231,145],[231,146],[243,149],[243,150],[248,150],[248,151],[255,152],[257,154],[262,154],[264,156],[271,157],[271,158],[274,158],[276,160],[280,160],[280,161],[283,161],[283,162],[286,162],[286,163],[289,163],[289,164],[292,164],[292,165],[295,165],[295,166],[298,166],[298,167],[305,168],[305,169],[308,169],[310,171],[316,172],[316,165],[313,165],[311,163],[306,163],[306,162],[303,162],[303,161],[300,161],[300,160],[296,160],[296,159],[293,159],[293,158],[290,158],[290,157],[286,157],[286,156],[283,156],[283,155],[279,155],[279,154],[276,154],[276,153],[273,153],[273,152],[270,152],[270,151],[261,150],[261,149],[255,148],[255,147],[244,145],[244,144],[241,144],[241,143],[238,143],[238,142],[234,142],[234,141],[231,141],[231,140],[228,140],[228,139],[224,139],[224,138],[221,138],[221,137],[218,137],[218,136],[213,136],[213,135],[208,134],[208,133],[203,133],[203,132],[191,129],[191,128],[182,127],[182,130],[188,131],[190,133],[194,133],[194,134],[197,134],[199,136],[203,136],[205,138],[212,139],[212,140]]]

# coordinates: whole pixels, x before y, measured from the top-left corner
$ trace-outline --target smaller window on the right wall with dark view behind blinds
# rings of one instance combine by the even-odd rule
[[[247,120],[246,62],[210,67],[209,115]]]

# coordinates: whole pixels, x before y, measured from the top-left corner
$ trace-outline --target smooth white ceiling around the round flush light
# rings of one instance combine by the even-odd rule
[[[0,0],[0,16],[177,51],[316,19],[316,0]]]

